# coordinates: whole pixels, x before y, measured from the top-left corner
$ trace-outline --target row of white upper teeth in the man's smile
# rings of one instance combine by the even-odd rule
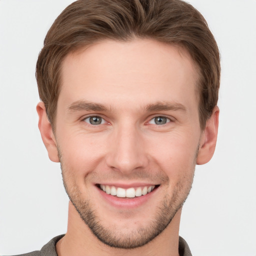
[[[150,193],[155,188],[155,185],[139,186],[136,188],[129,187],[127,189],[103,184],[99,184],[99,187],[107,194],[116,195],[117,197],[132,198],[135,196],[138,197]]]

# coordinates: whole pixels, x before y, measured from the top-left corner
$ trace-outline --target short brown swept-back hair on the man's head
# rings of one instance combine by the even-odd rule
[[[36,63],[36,80],[54,130],[61,63],[78,48],[99,40],[152,38],[185,48],[199,69],[201,129],[217,104],[220,59],[203,16],[181,0],[78,0],[55,19]]]

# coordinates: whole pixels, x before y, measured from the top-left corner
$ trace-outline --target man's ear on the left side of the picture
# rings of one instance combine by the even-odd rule
[[[41,133],[42,141],[48,151],[48,156],[51,161],[59,162],[58,152],[57,152],[57,143],[54,137],[51,124],[48,120],[44,103],[40,101],[36,106],[36,111],[39,117],[38,128]]]

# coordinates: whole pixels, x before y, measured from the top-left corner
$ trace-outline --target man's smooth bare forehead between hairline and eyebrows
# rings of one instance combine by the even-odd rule
[[[59,100],[66,104],[89,100],[143,106],[152,101],[189,101],[191,96],[196,101],[198,74],[189,54],[155,40],[97,42],[68,54],[61,71]]]

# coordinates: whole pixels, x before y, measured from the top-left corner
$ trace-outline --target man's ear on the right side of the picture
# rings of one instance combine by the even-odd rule
[[[202,131],[196,164],[208,162],[215,151],[218,134],[218,114],[219,108],[215,106]]]

